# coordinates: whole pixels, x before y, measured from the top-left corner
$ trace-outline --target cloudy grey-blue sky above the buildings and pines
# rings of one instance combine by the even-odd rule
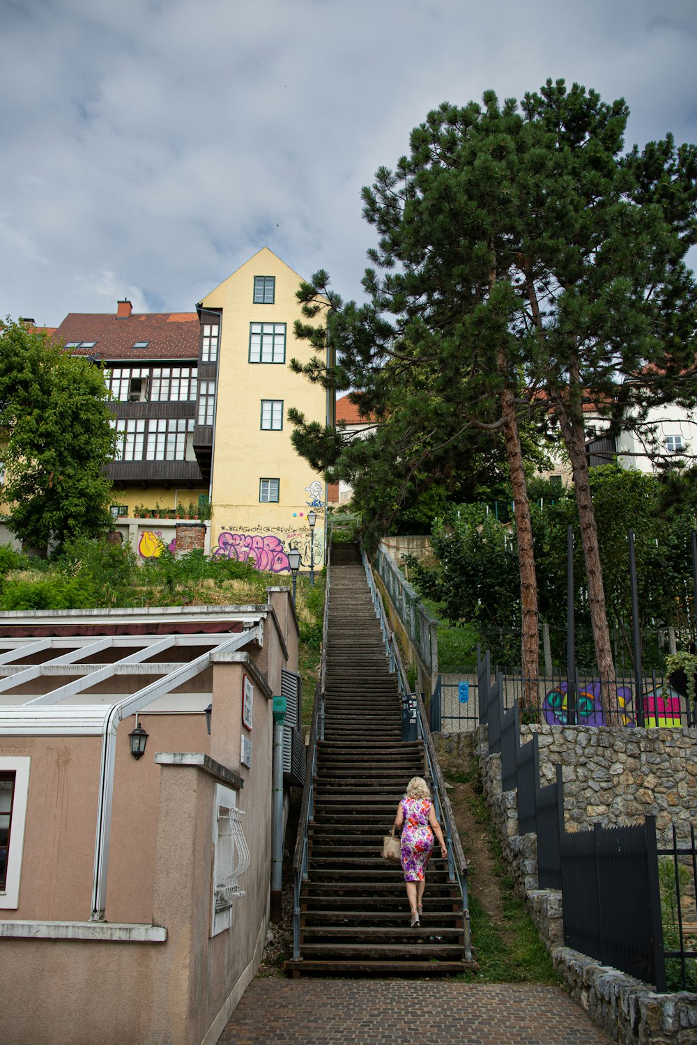
[[[697,0],[0,0],[0,315],[190,310],[260,247],[359,293],[441,101],[563,76],[697,140]]]

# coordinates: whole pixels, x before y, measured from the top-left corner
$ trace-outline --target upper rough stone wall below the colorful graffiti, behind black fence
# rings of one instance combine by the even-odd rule
[[[520,742],[533,732],[541,785],[553,784],[555,766],[562,767],[568,830],[626,827],[655,816],[659,844],[672,843],[671,821],[680,837],[690,837],[690,822],[697,822],[696,728],[524,725]]]

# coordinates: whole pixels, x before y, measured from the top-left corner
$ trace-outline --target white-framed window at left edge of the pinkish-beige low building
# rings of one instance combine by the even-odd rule
[[[19,907],[30,761],[0,756],[0,908],[4,909]]]

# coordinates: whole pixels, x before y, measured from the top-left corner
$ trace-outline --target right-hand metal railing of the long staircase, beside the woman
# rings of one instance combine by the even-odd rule
[[[373,571],[370,565],[368,556],[366,555],[363,547],[361,548],[361,556],[363,559],[364,570],[366,571],[366,578],[368,580],[368,587],[370,588],[370,594],[372,596],[373,605],[375,606],[375,616],[380,622],[380,630],[382,632],[382,640],[385,642],[385,648],[390,661],[390,671],[397,676],[397,687],[399,689],[400,697],[416,697],[417,705],[417,720],[416,720],[416,735],[419,740],[423,742],[423,749],[425,752],[426,770],[432,781],[433,796],[434,796],[434,810],[436,812],[436,818],[439,823],[445,827],[445,844],[447,845],[447,874],[448,881],[454,884],[457,882],[460,889],[460,896],[462,898],[462,924],[463,924],[463,935],[464,935],[464,951],[465,960],[472,960],[472,947],[471,947],[471,934],[469,927],[469,902],[467,899],[467,861],[465,859],[465,854],[462,851],[462,842],[460,841],[460,833],[455,821],[455,815],[452,813],[452,807],[450,806],[450,799],[447,796],[447,789],[445,787],[445,781],[443,780],[443,773],[441,772],[440,763],[438,762],[438,756],[436,753],[436,747],[434,745],[434,739],[431,735],[431,728],[428,726],[428,718],[426,716],[425,707],[423,706],[423,700],[419,693],[413,693],[410,691],[409,680],[406,678],[406,673],[401,659],[401,654],[399,652],[399,647],[397,645],[397,640],[395,633],[390,627],[390,623],[387,619],[385,608],[382,606],[382,599],[380,598],[380,593],[377,589],[375,580],[373,578]]]

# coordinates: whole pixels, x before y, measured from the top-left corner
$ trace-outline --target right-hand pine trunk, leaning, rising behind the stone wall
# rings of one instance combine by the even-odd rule
[[[596,513],[590,496],[588,462],[585,456],[585,442],[583,438],[583,420],[582,418],[573,418],[571,412],[566,411],[563,407],[559,410],[559,415],[561,434],[566,450],[568,451],[574,474],[576,507],[581,524],[581,544],[583,545],[585,575],[588,583],[590,624],[593,626],[596,659],[598,660],[598,670],[601,678],[601,703],[605,713],[605,721],[609,725],[611,722],[611,703],[613,704],[615,699],[614,697],[610,698],[610,693],[613,694],[615,690],[614,661],[612,659],[610,630],[607,626],[607,612],[605,610],[603,571],[600,564]],[[617,712],[617,709],[612,709],[612,711]]]

